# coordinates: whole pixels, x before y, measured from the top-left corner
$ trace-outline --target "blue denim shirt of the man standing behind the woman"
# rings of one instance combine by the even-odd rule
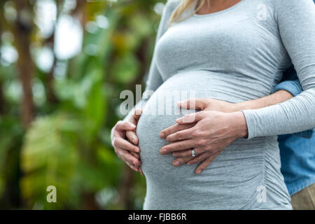
[[[283,74],[283,82],[275,91],[286,90],[296,96],[302,92],[300,81],[292,67]],[[281,172],[290,195],[315,183],[315,134],[307,130],[295,134],[280,135]]]

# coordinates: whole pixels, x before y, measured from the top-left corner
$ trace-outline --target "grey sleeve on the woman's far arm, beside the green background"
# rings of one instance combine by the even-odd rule
[[[167,28],[169,26],[169,19],[172,16],[172,13],[174,9],[176,8],[178,3],[176,1],[168,1],[160,20],[160,25],[158,27],[158,33],[155,39],[155,48],[153,51],[153,58],[151,61],[151,66],[148,73],[148,79],[146,80],[146,90],[144,91],[144,94],[142,95],[141,101],[137,102],[137,104],[134,106],[134,108],[127,114],[127,116],[124,118],[124,120],[129,120],[130,116],[134,113],[134,110],[137,108],[142,108],[148,99],[150,99],[152,92],[158,89],[160,85],[162,85],[163,80],[162,76],[160,74],[160,71],[158,70],[158,67],[155,63],[155,50],[156,45],[159,41],[159,39],[165,34],[165,31],[167,31]]]

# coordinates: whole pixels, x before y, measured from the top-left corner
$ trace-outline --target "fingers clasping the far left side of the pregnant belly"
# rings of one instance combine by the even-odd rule
[[[143,174],[139,155],[140,148],[137,146],[139,139],[135,132],[140,116],[141,109],[136,109],[129,122],[118,121],[111,130],[111,142],[118,157],[131,169]]]

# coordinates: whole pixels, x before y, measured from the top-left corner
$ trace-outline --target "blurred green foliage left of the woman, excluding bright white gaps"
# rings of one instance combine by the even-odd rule
[[[10,7],[16,3],[6,2]],[[34,17],[36,1],[29,2]],[[55,2],[61,16],[64,1]],[[52,71],[43,71],[34,63],[34,100],[41,103],[35,100],[35,118],[27,130],[20,121],[24,92],[18,63],[0,63],[0,208],[141,209],[146,188],[139,174],[131,178],[134,185],[127,195],[131,206],[122,202],[120,189],[126,174],[111,146],[110,132],[121,119],[116,112],[120,91],[134,91],[134,84],[148,71],[160,20],[153,11],[158,2],[95,1],[80,6],[79,13],[76,9],[67,12],[73,18],[84,18],[83,28],[99,15],[109,26],[84,31],[81,52],[67,60],[55,58]],[[1,1],[2,10],[5,6]],[[14,22],[4,15],[0,16],[0,34],[14,34]],[[29,48],[51,47],[50,41],[53,38],[33,29]],[[60,63],[66,69],[59,76]],[[51,83],[50,73],[55,74]],[[47,202],[48,186],[57,188],[57,203]]]

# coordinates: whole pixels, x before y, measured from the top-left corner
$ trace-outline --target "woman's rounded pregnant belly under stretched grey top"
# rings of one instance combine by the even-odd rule
[[[180,110],[176,102],[190,97],[211,97],[228,102],[246,100],[231,88],[232,85],[218,74],[211,76],[207,71],[178,73],[166,80],[148,100],[137,125],[142,169],[147,180],[146,209],[159,209],[153,204],[160,204],[165,209],[193,209],[194,202],[195,209],[202,202],[204,209],[215,209],[211,202],[218,205],[222,200],[227,202],[225,209],[229,206],[235,209],[232,201],[243,207],[254,197],[263,179],[262,148],[266,148],[266,144],[271,144],[267,148],[276,148],[274,139],[239,139],[218,155],[201,175],[195,174],[197,165],[174,167],[172,154],[160,154],[160,148],[169,144],[160,139],[160,131],[176,124],[176,119],[184,114],[195,112]],[[193,197],[194,202],[191,202],[189,195],[196,194],[199,197]],[[165,204],[179,197],[183,199],[183,207]],[[189,201],[189,207],[185,207]]]

